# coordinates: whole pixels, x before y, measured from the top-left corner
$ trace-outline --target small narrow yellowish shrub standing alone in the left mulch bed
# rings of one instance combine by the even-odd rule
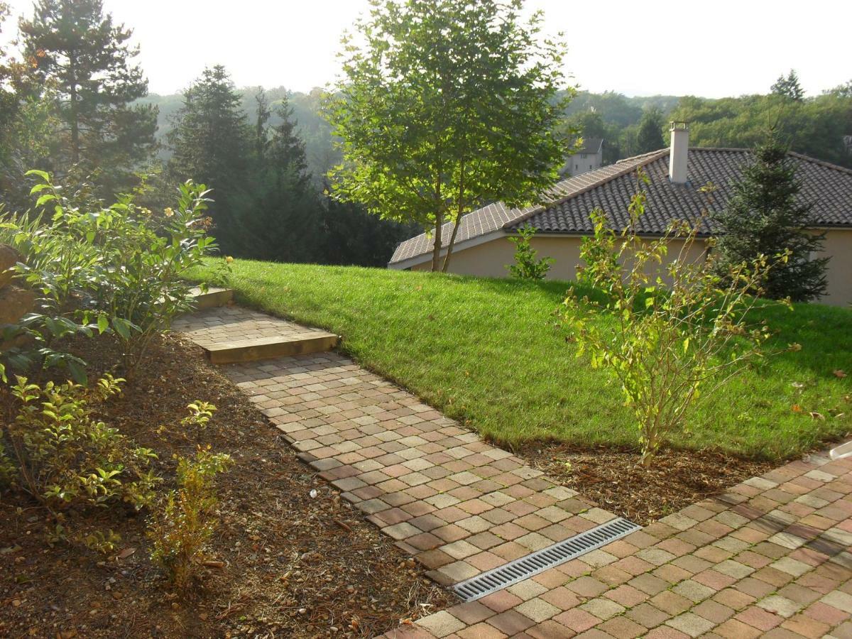
[[[214,480],[231,463],[229,456],[203,449],[195,458],[177,458],[178,488],[169,492],[149,522],[151,558],[178,589],[191,584],[204,544],[216,529]]]

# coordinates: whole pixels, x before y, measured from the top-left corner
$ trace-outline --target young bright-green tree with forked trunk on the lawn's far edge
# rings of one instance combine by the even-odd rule
[[[371,0],[344,37],[343,78],[326,103],[342,140],[339,199],[432,228],[432,269],[450,263],[445,222],[481,204],[533,203],[558,179],[567,131],[565,47],[541,39],[521,0]],[[363,42],[363,44],[360,44]],[[446,257],[440,262],[441,250]]]

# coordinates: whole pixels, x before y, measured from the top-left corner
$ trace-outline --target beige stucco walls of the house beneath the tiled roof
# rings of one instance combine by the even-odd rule
[[[580,238],[569,236],[546,237],[539,235],[532,240],[538,256],[556,259],[550,268],[548,279],[575,279],[580,261]],[[670,259],[675,259],[682,247],[682,240],[672,240],[669,247]],[[705,250],[703,243],[696,242],[686,259],[701,259]],[[825,253],[832,259],[828,262],[828,294],[820,302],[838,306],[852,303],[852,229],[826,232]],[[515,245],[505,237],[498,237],[481,245],[453,253],[450,262],[452,273],[479,275],[481,277],[506,277],[507,264],[515,261]],[[412,267],[412,270],[428,271],[431,262]]]

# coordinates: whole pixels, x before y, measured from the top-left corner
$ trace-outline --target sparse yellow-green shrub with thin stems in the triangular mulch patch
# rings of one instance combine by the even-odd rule
[[[759,290],[770,265],[763,255],[731,265],[725,283],[712,258],[690,258],[701,219],[642,239],[636,224],[644,212],[642,191],[630,200],[630,222],[620,232],[607,227],[601,210],[592,212],[595,234],[583,239],[579,281],[603,299],[573,288],[563,317],[577,355],[588,352],[592,367],[620,383],[648,465],[665,439],[686,426],[700,395],[716,393],[763,356],[769,328],[747,324],[746,316],[756,303],[749,293]],[[673,243],[681,245],[679,255],[666,262]]]

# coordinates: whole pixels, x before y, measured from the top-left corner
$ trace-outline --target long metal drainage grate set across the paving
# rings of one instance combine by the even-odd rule
[[[618,538],[640,530],[642,527],[621,517],[607,521],[605,524],[579,533],[565,541],[537,550],[532,555],[509,561],[487,573],[463,581],[453,586],[458,596],[465,602],[473,602],[480,597],[490,595],[497,590],[503,590],[511,584],[528,579],[542,573],[548,568],[559,566],[566,561],[585,555],[591,550],[609,544]]]

